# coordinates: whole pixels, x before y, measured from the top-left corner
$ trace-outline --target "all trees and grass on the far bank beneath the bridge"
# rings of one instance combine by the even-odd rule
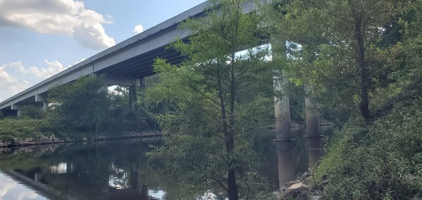
[[[114,93],[101,90],[103,76],[80,77],[74,82],[58,85],[49,90],[49,108],[42,111],[36,106],[23,106],[18,118],[8,118],[9,123],[16,128],[3,130],[2,137],[12,141],[13,138],[25,138],[37,135],[56,137],[81,138],[89,137],[93,132],[140,132],[153,127],[146,119],[149,115],[143,108],[129,108],[129,92],[117,88]],[[37,119],[32,121],[31,119]],[[151,120],[153,121],[153,120]],[[27,124],[33,129],[24,128]],[[153,121],[154,122],[154,121]],[[23,129],[17,129],[18,125]]]

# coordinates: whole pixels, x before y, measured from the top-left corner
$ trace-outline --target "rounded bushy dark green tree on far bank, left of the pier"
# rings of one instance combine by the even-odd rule
[[[107,119],[107,91],[102,91],[103,76],[80,77],[75,82],[49,89],[49,103],[54,105],[58,123],[71,130],[98,132]]]

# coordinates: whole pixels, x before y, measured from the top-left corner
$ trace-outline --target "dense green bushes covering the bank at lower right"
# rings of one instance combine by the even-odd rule
[[[422,80],[369,128],[348,123],[315,173],[328,199],[411,199],[422,193]]]

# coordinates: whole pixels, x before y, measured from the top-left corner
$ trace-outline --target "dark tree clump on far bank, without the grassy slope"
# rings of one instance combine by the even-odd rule
[[[148,128],[146,111],[129,107],[129,89],[117,87],[109,94],[101,87],[103,76],[91,76],[51,88],[47,117],[61,132],[139,132]]]

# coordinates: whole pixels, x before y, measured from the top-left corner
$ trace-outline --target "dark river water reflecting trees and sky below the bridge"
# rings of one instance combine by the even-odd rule
[[[308,168],[305,131],[294,132],[295,174]],[[264,158],[261,175],[271,189],[278,186],[274,134],[255,139],[253,148]],[[161,140],[32,146],[0,153],[0,200],[7,199],[200,199],[184,196],[177,182],[158,170],[146,156]]]

